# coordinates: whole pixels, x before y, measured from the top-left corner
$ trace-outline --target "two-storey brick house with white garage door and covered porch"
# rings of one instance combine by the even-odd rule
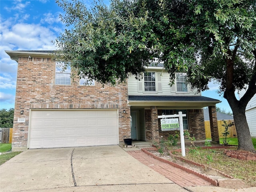
[[[210,112],[212,140],[218,141],[216,103],[186,86],[184,74],[169,74],[161,64],[146,68],[142,80],[130,76],[115,87],[70,78],[70,69],[51,51],[6,51],[18,62],[13,150],[122,144],[124,138],[159,141],[174,131],[162,131],[158,115],[186,114],[184,128],[205,139],[204,113]]]

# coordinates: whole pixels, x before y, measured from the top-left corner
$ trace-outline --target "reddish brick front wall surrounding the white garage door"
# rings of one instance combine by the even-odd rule
[[[50,56],[49,56],[50,57]],[[26,148],[30,109],[118,109],[119,141],[130,138],[130,107],[127,84],[118,86],[95,82],[80,86],[74,78],[71,85],[55,85],[55,60],[52,58],[20,57],[16,85],[12,148]],[[24,110],[24,114],[20,111]],[[126,113],[123,113],[126,110]],[[18,118],[26,118],[18,123]]]

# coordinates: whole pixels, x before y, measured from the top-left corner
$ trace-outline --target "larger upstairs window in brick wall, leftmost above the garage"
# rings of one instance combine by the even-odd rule
[[[56,62],[55,67],[55,84],[56,85],[70,85],[71,68],[70,66],[65,66],[62,62]]]

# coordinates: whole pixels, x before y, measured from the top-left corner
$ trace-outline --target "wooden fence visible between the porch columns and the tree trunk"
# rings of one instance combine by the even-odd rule
[[[234,120],[225,120],[227,124],[230,124],[231,122],[234,122]],[[218,130],[219,130],[219,137],[223,138],[222,133],[224,132],[225,128],[222,126],[224,122],[222,120],[218,120]],[[204,126],[205,126],[205,134],[206,138],[212,138],[211,136],[211,128],[210,128],[210,121],[204,121]],[[233,125],[232,127],[228,128],[228,131],[230,132],[228,137],[230,138],[236,138],[237,133],[236,133],[236,126]]]

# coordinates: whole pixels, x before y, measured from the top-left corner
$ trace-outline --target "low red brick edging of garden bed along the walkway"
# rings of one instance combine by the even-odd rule
[[[227,183],[226,183],[225,181],[223,181],[223,180],[220,180],[220,181],[214,180],[214,179],[210,178],[209,176],[207,176],[207,175],[205,175],[205,174],[201,174],[201,173],[199,173],[199,172],[196,172],[196,171],[194,171],[194,170],[191,170],[191,169],[189,169],[189,168],[186,168],[186,167],[181,166],[181,165],[179,165],[179,164],[176,164],[176,163],[174,163],[174,162],[165,160],[165,159],[163,159],[163,158],[161,158],[161,157],[159,157],[159,156],[156,156],[156,155],[154,155],[154,154],[148,152],[148,150],[156,150],[155,147],[153,147],[153,148],[142,148],[141,150],[142,150],[144,153],[146,153],[146,154],[152,156],[153,158],[155,158],[155,159],[157,159],[157,160],[160,160],[161,162],[170,164],[170,165],[172,165],[172,166],[174,166],[174,167],[176,167],[176,168],[179,168],[179,169],[182,169],[182,170],[184,170],[184,171],[186,171],[186,172],[188,172],[188,173],[194,174],[194,175],[196,175],[196,176],[198,176],[198,177],[200,177],[200,178],[202,178],[202,179],[204,179],[204,180],[210,182],[210,183],[211,183],[212,185],[214,185],[214,186],[219,186],[219,187],[232,187],[232,186],[233,186],[233,184],[232,184],[233,182],[228,182],[228,185],[229,185],[229,186],[226,186]],[[192,162],[192,161],[190,161],[190,160],[186,160],[185,158],[181,158],[181,157],[175,156],[175,155],[173,155],[172,153],[170,153],[170,154],[171,154],[172,156],[174,156],[175,158],[179,158],[179,159],[182,160],[182,161],[184,160],[184,161],[187,162],[187,163],[191,163],[191,164],[194,164],[194,165],[196,165],[196,166],[201,166],[201,164],[198,164],[198,163],[196,163],[196,162]],[[214,170],[215,170],[215,169],[214,169]],[[238,180],[234,179],[232,176],[229,176],[229,175],[227,175],[227,174],[224,174],[223,172],[220,172],[219,170],[216,170],[216,171],[219,172],[220,174],[222,174],[224,177],[229,178],[229,179],[231,179],[231,180],[234,180],[234,182],[235,182],[236,184],[238,183]],[[242,182],[242,184],[244,185],[244,182]]]

